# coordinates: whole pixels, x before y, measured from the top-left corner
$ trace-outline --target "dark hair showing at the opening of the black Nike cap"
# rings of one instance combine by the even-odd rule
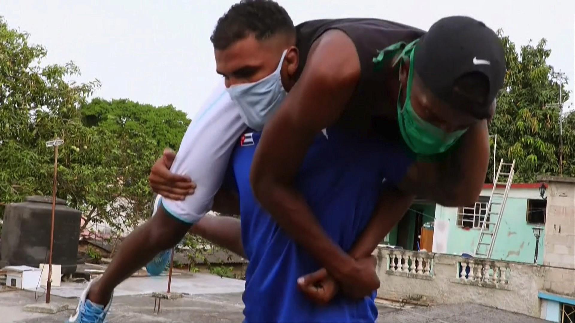
[[[470,72],[459,76],[453,84],[450,103],[455,109],[468,111],[482,120],[490,118],[489,79],[481,72]]]

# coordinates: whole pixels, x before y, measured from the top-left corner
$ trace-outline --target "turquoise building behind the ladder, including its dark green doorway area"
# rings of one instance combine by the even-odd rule
[[[469,209],[416,201],[382,244],[417,251],[425,225],[433,229],[432,252],[473,255],[492,188],[492,184],[485,184],[476,205],[469,206]],[[503,189],[496,191],[503,193]],[[539,194],[539,184],[512,184],[492,259],[534,263],[536,238],[533,228],[545,227],[546,207],[546,200]],[[538,264],[543,264],[544,240],[543,229],[539,237]]]

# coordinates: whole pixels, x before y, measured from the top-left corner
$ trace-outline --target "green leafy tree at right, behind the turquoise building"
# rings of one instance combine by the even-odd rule
[[[547,64],[551,50],[546,40],[524,45],[517,53],[515,44],[499,32],[505,47],[507,75],[504,90],[497,97],[497,110],[489,126],[497,134],[496,165],[503,158],[515,159],[514,182],[534,182],[539,174],[559,174],[559,83]],[[563,102],[569,93],[563,84]],[[575,134],[569,116],[563,126],[563,175],[575,176]],[[493,149],[493,137],[490,140]],[[493,160],[486,183],[493,181]]]

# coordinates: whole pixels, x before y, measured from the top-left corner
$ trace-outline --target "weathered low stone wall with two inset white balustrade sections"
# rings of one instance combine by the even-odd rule
[[[539,291],[575,293],[575,270],[378,247],[380,298],[427,304],[477,303],[540,316]]]

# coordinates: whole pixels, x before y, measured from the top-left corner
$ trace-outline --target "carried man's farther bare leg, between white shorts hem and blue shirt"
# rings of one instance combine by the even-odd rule
[[[239,219],[225,216],[205,216],[190,228],[190,233],[198,234],[211,243],[246,258],[241,243],[241,222]]]

